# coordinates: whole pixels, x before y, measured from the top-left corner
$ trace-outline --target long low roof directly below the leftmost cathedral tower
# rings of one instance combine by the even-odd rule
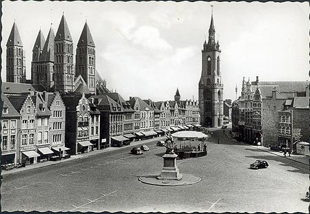
[[[34,85],[27,83],[6,83],[3,82],[1,90],[4,94],[22,94],[25,92],[43,92],[44,87],[42,85]]]

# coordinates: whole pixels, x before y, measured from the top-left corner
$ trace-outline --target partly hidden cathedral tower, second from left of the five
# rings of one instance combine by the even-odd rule
[[[31,62],[31,81],[33,84],[36,85],[39,84],[39,80],[37,78],[37,63],[39,62],[40,55],[42,54],[44,43],[45,39],[40,29],[32,49],[32,62]]]

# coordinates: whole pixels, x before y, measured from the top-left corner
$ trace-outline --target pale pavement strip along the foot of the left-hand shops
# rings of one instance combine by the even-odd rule
[[[147,139],[147,140],[152,140],[152,141],[155,140],[156,141],[156,140],[160,140],[162,138],[165,138],[165,136],[161,136],[161,137],[157,137],[157,138],[152,138],[152,139]],[[152,141],[149,141],[149,142],[152,142]],[[147,142],[145,142],[145,140],[138,140],[138,141],[134,141],[133,145],[128,145],[126,147],[131,147],[131,146],[135,147],[137,145],[143,145],[145,143],[147,143]],[[6,176],[6,175],[12,175],[12,174],[16,174],[16,173],[21,173],[23,171],[30,171],[30,170],[33,170],[33,169],[50,167],[50,166],[53,166],[53,165],[56,165],[56,164],[62,164],[63,162],[68,162],[68,161],[73,161],[73,160],[80,160],[80,159],[91,157],[91,156],[97,156],[97,155],[99,155],[101,153],[107,153],[107,152],[110,152],[110,151],[115,151],[115,150],[123,149],[123,148],[126,148],[126,147],[109,147],[109,148],[113,148],[113,149],[101,149],[98,153],[88,152],[88,153],[85,153],[85,155],[83,155],[83,156],[79,156],[79,157],[76,157],[76,158],[74,158],[74,156],[72,156],[71,158],[68,158],[66,160],[61,160],[61,162],[59,162],[59,161],[50,162],[50,164],[46,164],[46,165],[43,165],[43,166],[37,166],[36,165],[36,167],[33,167],[31,169],[25,167],[24,169],[21,169],[19,171],[14,171],[14,169],[12,169],[12,171],[4,171],[5,173],[3,173],[3,170],[1,170],[1,175]]]

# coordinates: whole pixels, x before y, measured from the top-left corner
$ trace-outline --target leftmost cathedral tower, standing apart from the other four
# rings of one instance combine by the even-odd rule
[[[25,83],[25,52],[21,36],[14,21],[8,42],[6,43],[6,81]]]

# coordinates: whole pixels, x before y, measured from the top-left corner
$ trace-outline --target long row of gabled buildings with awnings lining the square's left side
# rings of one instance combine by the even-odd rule
[[[45,92],[3,83],[1,165],[32,164],[200,127],[198,101]]]

